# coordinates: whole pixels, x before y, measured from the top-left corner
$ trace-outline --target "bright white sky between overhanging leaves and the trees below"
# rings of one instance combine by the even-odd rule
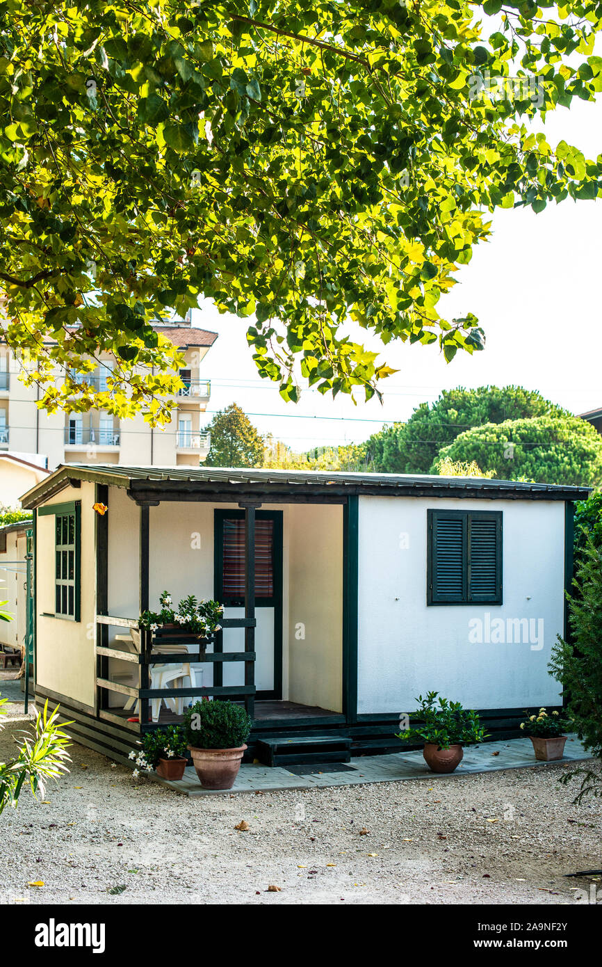
[[[595,160],[602,153],[602,97],[575,99],[537,129],[553,147],[564,139]],[[346,327],[381,354],[379,363],[399,370],[381,381],[382,404],[365,403],[361,395],[354,405],[349,397],[333,400],[306,388],[299,403],[285,403],[277,383],[259,378],[245,339],[248,320],[220,315],[209,302],[195,310],[192,324],[219,334],[201,364],[202,378],[212,381],[207,422],[237,402],[262,435],[272,433],[302,452],[358,443],[456,386],[513,383],[574,413],[602,407],[602,200],[566,199],[539,215],[499,210],[491,227],[490,241],[473,250],[471,263],[456,274],[459,284],[438,304],[447,319],[469,311],[478,317],[484,351],[458,351],[446,364],[437,343],[385,346],[359,327]]]

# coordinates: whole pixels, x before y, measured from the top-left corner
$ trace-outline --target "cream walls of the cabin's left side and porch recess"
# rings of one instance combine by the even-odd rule
[[[54,611],[54,516],[38,523],[38,681],[87,705],[94,701],[95,513],[94,485],[68,488],[48,503],[81,500],[81,621],[43,615]],[[108,496],[108,612],[115,617],[139,614],[140,508],[123,487]],[[186,595],[214,596],[214,512],[238,510],[238,504],[171,503],[150,509],[149,598],[158,608],[163,590],[177,603]],[[283,513],[283,694],[307,705],[335,712],[342,701],[342,509],[322,505],[264,505]],[[239,608],[230,608],[235,617]],[[304,626],[304,637],[299,626]],[[273,650],[273,609],[257,609],[257,686],[268,688]],[[123,629],[111,629],[111,635]],[[224,649],[242,651],[244,631],[228,630]],[[212,666],[204,666],[204,684],[213,682]],[[111,659],[110,674],[131,668]],[[224,666],[224,685],[243,684],[243,665]],[[113,703],[121,700],[113,697]]]

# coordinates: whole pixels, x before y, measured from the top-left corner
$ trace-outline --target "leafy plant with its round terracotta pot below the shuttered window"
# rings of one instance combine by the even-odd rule
[[[420,724],[399,732],[397,738],[422,741],[422,754],[431,772],[452,773],[464,756],[462,747],[486,738],[480,719],[476,712],[462,708],[460,702],[441,698],[438,691],[429,691],[426,698],[418,695],[416,702],[420,706],[413,718],[418,718]]]

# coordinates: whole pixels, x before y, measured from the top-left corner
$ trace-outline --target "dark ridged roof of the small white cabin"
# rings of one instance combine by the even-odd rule
[[[23,508],[37,507],[70,480],[126,486],[132,496],[151,499],[159,491],[210,495],[232,492],[233,500],[245,495],[346,496],[353,493],[389,496],[476,497],[484,499],[582,500],[590,487],[523,484],[474,477],[438,477],[421,474],[371,474],[348,471],[249,470],[230,467],[151,467],[115,464],[62,464],[22,498]]]

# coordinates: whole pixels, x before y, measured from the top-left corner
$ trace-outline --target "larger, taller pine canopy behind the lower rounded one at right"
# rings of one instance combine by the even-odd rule
[[[444,390],[429,405],[420,403],[407,424],[395,425],[375,434],[368,441],[368,454],[374,469],[384,473],[438,473],[435,461],[443,448],[459,433],[473,426],[501,424],[506,420],[564,416],[565,411],[539,393],[522,386],[479,386],[475,390],[458,387]],[[455,456],[472,461],[475,457]],[[482,469],[489,464],[476,462]]]

